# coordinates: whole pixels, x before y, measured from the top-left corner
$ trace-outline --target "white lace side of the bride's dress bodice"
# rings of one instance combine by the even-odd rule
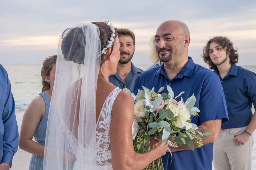
[[[96,124],[96,148],[97,148],[97,165],[108,165],[111,164],[111,147],[110,147],[110,136],[109,128],[112,121],[111,111],[114,101],[122,90],[115,88],[105,100],[101,113]],[[135,119],[134,119],[135,120]],[[133,122],[133,139],[138,133],[138,123],[135,120]]]

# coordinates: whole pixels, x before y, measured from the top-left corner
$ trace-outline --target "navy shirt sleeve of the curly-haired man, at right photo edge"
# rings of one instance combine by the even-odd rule
[[[254,105],[254,109],[256,110],[256,74],[251,73],[245,79],[245,91],[250,100]]]

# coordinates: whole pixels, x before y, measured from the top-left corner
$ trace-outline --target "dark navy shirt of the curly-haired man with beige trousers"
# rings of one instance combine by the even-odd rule
[[[218,69],[214,71],[219,75]],[[221,128],[241,128],[249,125],[256,109],[256,74],[233,64],[223,79],[219,75],[226,98],[229,121]]]

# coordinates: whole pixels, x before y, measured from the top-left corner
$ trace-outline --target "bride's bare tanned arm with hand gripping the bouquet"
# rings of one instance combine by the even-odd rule
[[[132,138],[133,117],[133,98],[122,91],[113,105],[110,125],[112,167],[114,170],[141,170],[167,151],[167,143],[159,142],[144,154],[135,153]]]

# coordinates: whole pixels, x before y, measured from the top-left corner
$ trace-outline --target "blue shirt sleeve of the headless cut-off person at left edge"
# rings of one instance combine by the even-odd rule
[[[5,70],[6,72],[6,70]],[[19,132],[15,116],[15,101],[11,93],[11,84],[6,72],[7,90],[6,100],[3,108],[2,120],[4,126],[3,134],[3,156],[1,163],[8,163],[11,165],[13,156],[18,150]]]

